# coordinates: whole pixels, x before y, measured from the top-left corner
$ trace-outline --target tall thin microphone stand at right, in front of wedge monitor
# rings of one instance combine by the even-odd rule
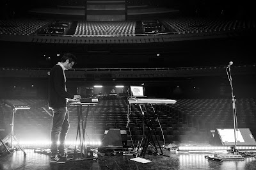
[[[228,81],[229,81],[230,87],[231,87],[232,108],[233,108],[233,118],[234,118],[235,146],[234,146],[233,152],[237,152],[238,150],[236,148],[236,143],[237,143],[237,136],[236,136],[236,132],[237,132],[236,98],[235,98],[235,95],[234,95],[234,88],[233,88],[233,85],[232,85],[232,76],[231,76],[231,72],[230,72],[230,65],[227,66],[226,72],[227,72]]]

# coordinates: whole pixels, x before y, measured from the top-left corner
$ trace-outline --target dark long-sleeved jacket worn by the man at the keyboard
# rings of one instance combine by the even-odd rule
[[[74,98],[74,95],[65,91],[63,70],[60,65],[55,65],[52,67],[49,77],[48,106],[66,107],[66,98]]]

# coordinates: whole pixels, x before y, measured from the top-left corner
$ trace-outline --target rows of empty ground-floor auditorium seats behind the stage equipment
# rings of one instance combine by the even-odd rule
[[[46,100],[22,100],[22,102],[35,105]],[[44,106],[47,108],[47,105]],[[83,107],[85,116],[87,107]],[[77,107],[68,106],[70,130],[67,141],[76,140],[77,133]],[[238,128],[255,128],[256,99],[239,98],[236,101]],[[10,128],[11,111],[9,107],[3,107],[4,123]],[[49,111],[52,113],[51,111]],[[148,108],[148,113],[152,110]],[[173,105],[159,105],[156,120],[156,137],[161,143],[207,143],[210,130],[215,128],[234,128],[232,100],[229,98],[207,99],[177,99]],[[152,116],[151,116],[152,117]],[[104,137],[104,131],[109,128],[126,130],[128,140],[134,143],[140,141],[143,135],[143,116],[138,105],[131,107],[129,114],[129,126],[127,126],[126,100],[101,100],[98,105],[90,106],[86,121],[86,139],[90,141],[100,140]],[[85,122],[85,120],[84,120]],[[29,110],[18,110],[15,114],[15,134],[17,138],[26,141],[34,138],[50,139],[52,118],[42,106]],[[126,127],[127,126],[127,127]],[[144,124],[144,133],[148,128]],[[9,129],[10,131],[10,129]],[[132,144],[127,141],[127,144]]]

